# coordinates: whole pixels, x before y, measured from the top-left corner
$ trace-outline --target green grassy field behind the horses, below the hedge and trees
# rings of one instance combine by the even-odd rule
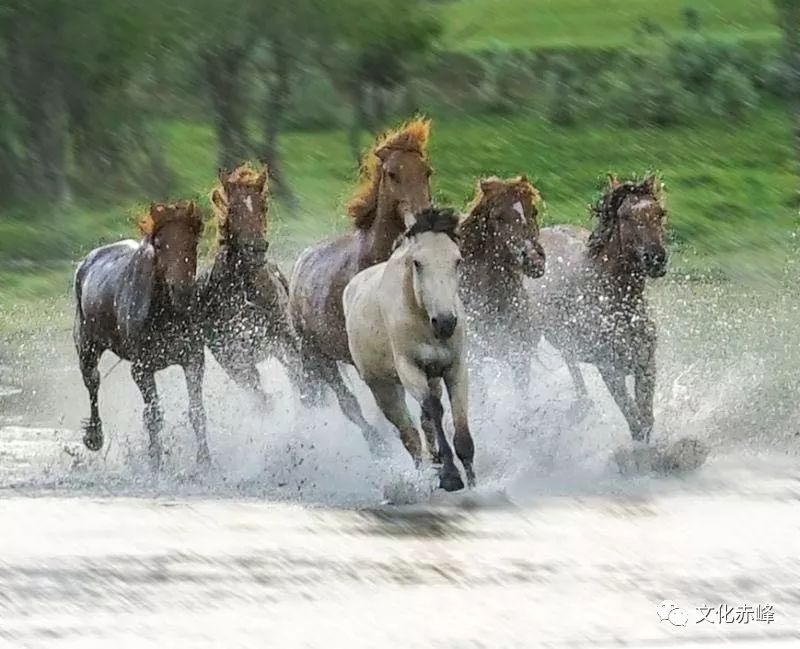
[[[788,133],[788,119],[778,109],[761,110],[735,126],[709,121],[675,129],[557,129],[532,116],[440,120],[431,138],[434,193],[440,202],[463,206],[479,176],[524,172],[546,200],[545,223],[588,225],[586,206],[598,176],[658,169],[667,183],[670,233],[679,252],[675,272],[757,278],[780,270],[795,225]],[[204,200],[214,182],[213,134],[203,125],[177,123],[165,124],[163,136],[177,170],[175,196]],[[272,250],[288,263],[302,246],[348,227],[341,206],[355,165],[341,132],[290,134],[284,146],[301,209],[290,215],[274,205],[270,236]],[[0,267],[0,305],[6,307],[0,328],[25,304],[66,295],[70,263],[99,243],[130,236],[134,213],[131,204],[77,206],[0,221],[4,248],[30,260]]]

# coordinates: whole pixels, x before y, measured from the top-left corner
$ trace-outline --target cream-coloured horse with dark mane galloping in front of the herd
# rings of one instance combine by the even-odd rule
[[[467,483],[475,484],[457,226],[452,210],[422,211],[389,260],[358,273],[343,296],[348,345],[361,378],[417,466],[422,444],[405,392],[419,402],[428,450],[434,463],[442,463],[439,480],[447,491],[464,483],[442,427],[442,379],[453,411],[453,446]]]

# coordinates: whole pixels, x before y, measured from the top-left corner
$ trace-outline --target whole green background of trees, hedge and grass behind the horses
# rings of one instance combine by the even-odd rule
[[[0,0],[0,327],[64,312],[137,206],[244,159],[270,164],[288,263],[347,227],[358,155],[417,111],[441,201],[526,172],[547,221],[586,223],[604,172],[658,169],[674,273],[791,251],[800,0]]]

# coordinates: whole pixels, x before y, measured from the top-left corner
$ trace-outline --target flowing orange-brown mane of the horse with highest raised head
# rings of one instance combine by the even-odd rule
[[[398,129],[387,131],[362,158],[358,187],[347,202],[347,215],[356,229],[367,230],[375,220],[381,180],[378,151],[409,151],[425,159],[429,134],[430,120],[412,120]]]

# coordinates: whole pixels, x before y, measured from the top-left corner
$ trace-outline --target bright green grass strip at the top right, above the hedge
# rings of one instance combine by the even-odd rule
[[[703,31],[720,39],[776,38],[770,0],[457,0],[441,5],[443,45],[480,50],[501,42],[517,49],[635,45],[643,18],[668,33],[685,30],[694,7]]]

